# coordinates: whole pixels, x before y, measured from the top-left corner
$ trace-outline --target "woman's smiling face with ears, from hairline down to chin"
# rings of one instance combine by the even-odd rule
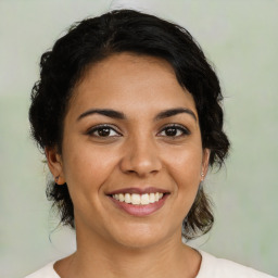
[[[77,235],[142,248],[180,239],[208,151],[172,66],[121,53],[76,86],[54,156],[49,165],[68,186]]]

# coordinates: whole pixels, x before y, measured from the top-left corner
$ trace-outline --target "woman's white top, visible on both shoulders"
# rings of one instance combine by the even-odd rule
[[[195,278],[275,278],[231,261],[217,258],[203,251],[199,252],[202,255],[202,263]],[[60,278],[53,268],[54,263],[46,265],[25,278]]]

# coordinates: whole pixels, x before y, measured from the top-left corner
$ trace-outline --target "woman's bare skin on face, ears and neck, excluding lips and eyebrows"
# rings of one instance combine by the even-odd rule
[[[154,119],[162,111],[190,113]],[[92,109],[113,109],[125,119]],[[79,118],[79,119],[78,119]],[[100,136],[93,127],[112,129]],[[189,132],[166,126],[178,124]],[[89,131],[88,131],[89,130]],[[166,132],[167,131],[167,132]],[[192,96],[164,60],[114,54],[92,65],[74,89],[64,121],[62,154],[46,149],[58,184],[67,184],[74,203],[77,251],[55,263],[61,277],[195,277],[201,255],[181,242],[210,151],[202,148]],[[172,134],[173,135],[173,134]],[[122,188],[157,187],[169,192],[148,216],[129,215],[106,195]]]

